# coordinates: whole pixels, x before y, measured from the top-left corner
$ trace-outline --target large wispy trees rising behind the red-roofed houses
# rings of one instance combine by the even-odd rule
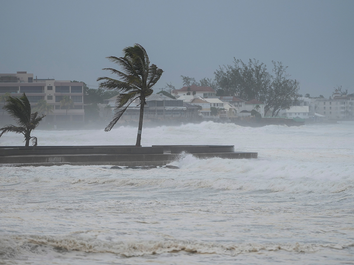
[[[296,104],[299,82],[286,73],[287,66],[273,63],[272,74],[264,63],[249,59],[244,63],[234,58],[234,65],[220,66],[214,72],[215,78],[203,78],[199,82],[193,77],[182,76],[183,86],[211,87],[217,96],[236,96],[245,100],[264,102],[264,114],[277,116],[281,109]],[[173,87],[167,84],[168,87]]]

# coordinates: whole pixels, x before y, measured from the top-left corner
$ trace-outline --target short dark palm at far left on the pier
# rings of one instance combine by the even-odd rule
[[[30,139],[32,139],[33,146],[37,146],[37,137],[31,137],[31,131],[38,126],[45,115],[38,116],[38,112],[31,113],[31,105],[25,93],[19,99],[8,96],[6,102],[7,104],[2,108],[8,112],[19,126],[6,125],[0,128],[0,137],[9,131],[23,134],[26,141],[25,147],[29,146]]]

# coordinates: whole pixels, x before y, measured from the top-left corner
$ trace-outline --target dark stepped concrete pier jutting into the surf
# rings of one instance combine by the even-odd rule
[[[0,166],[116,165],[163,166],[184,154],[206,158],[257,158],[256,152],[235,152],[234,146],[164,145],[0,147]]]

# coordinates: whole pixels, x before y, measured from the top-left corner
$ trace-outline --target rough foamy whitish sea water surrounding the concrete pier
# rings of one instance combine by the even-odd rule
[[[136,134],[33,132],[39,145],[134,145]],[[235,145],[258,159],[0,167],[0,264],[354,264],[353,122],[143,128],[143,146],[162,144]]]

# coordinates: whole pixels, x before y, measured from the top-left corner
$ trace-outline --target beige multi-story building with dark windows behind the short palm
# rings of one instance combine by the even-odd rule
[[[46,113],[46,122],[61,122],[72,120],[76,122],[84,121],[82,82],[70,82],[69,80],[58,81],[54,79],[33,78],[33,73],[0,73],[0,96],[9,93],[10,96],[21,96],[26,94],[31,107],[33,108],[39,100],[46,100],[53,106],[53,112]],[[61,100],[64,96],[69,96],[74,102],[74,107],[65,109],[61,107]],[[0,108],[4,102],[0,102]],[[41,113],[40,113],[41,114]],[[2,123],[10,121],[7,113],[4,113]]]

